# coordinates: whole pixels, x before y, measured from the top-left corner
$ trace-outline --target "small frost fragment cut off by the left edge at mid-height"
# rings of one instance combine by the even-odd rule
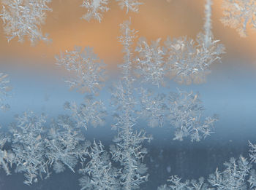
[[[11,90],[9,86],[10,81],[7,77],[7,74],[0,73],[0,108],[3,110],[10,108],[8,104],[3,103],[4,98],[9,95],[8,92]]]

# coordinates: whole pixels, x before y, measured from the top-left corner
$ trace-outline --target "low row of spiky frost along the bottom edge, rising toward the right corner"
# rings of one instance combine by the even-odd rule
[[[255,170],[244,157],[238,160],[231,158],[224,163],[225,170],[219,172],[218,168],[214,174],[209,175],[208,180],[199,178],[182,182],[177,175],[170,176],[169,184],[159,186],[158,190],[233,190],[233,189],[255,189]]]

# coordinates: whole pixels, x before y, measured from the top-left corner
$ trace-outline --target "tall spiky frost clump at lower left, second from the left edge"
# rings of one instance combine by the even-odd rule
[[[32,111],[23,113],[23,116],[17,116],[17,124],[12,126],[12,151],[15,154],[14,164],[15,172],[25,173],[26,181],[30,185],[42,178],[42,173],[46,177],[48,172],[48,163],[45,159],[45,145],[43,140],[43,129],[45,116],[37,116]]]

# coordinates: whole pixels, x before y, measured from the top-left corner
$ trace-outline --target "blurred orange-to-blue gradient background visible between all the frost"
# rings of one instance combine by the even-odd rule
[[[42,41],[31,47],[28,40],[23,44],[12,39],[7,43],[2,27],[0,28],[0,72],[9,74],[12,98],[7,99],[11,109],[0,113],[1,125],[7,127],[14,114],[31,109],[45,112],[48,117],[63,113],[65,101],[81,102],[83,95],[69,91],[63,78],[67,71],[55,65],[54,55],[60,51],[72,50],[74,45],[94,47],[94,52],[105,61],[110,77],[99,94],[99,99],[108,100],[108,87],[118,74],[117,65],[122,63],[123,53],[117,37],[120,36],[120,23],[131,17],[132,28],[138,30],[138,36],[145,36],[148,41],[167,36],[176,38],[189,36],[195,38],[203,28],[204,0],[145,0],[139,13],[125,14],[119,9],[116,1],[109,4],[110,10],[103,15],[102,23],[81,20],[86,9],[80,7],[82,0],[53,0],[49,7],[42,32],[49,33],[52,44]],[[225,28],[220,23],[222,17],[221,1],[213,5],[212,25],[216,39],[225,44],[226,54],[222,63],[211,66],[211,74],[205,84],[178,85],[169,82],[167,89],[200,92],[205,106],[206,116],[219,115],[211,137],[199,143],[173,141],[173,132],[164,128],[147,129],[154,135],[154,140],[145,146],[149,154],[145,157],[148,165],[148,183],[143,189],[156,189],[165,183],[169,175],[182,178],[208,177],[216,167],[222,169],[222,163],[230,157],[243,154],[248,157],[248,140],[256,143],[256,32],[248,28],[249,37],[241,38],[233,28]],[[3,23],[0,21],[1,25]],[[109,110],[111,109],[107,105]],[[115,132],[110,131],[110,119],[105,127],[89,128],[86,137],[102,140],[105,146],[111,143]],[[145,128],[140,122],[138,127]],[[15,183],[13,183],[15,178]],[[0,189],[79,189],[78,174],[72,175],[67,170],[59,175],[53,174],[50,179],[40,181],[34,186],[23,185],[22,174],[6,176],[0,170]],[[68,180],[67,180],[68,179]]]

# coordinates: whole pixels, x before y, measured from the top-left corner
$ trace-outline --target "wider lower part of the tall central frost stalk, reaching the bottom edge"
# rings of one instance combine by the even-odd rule
[[[142,163],[147,151],[142,143],[152,138],[142,130],[137,132],[133,129],[136,124],[134,99],[129,90],[119,83],[113,93],[113,100],[118,106],[115,114],[117,122],[113,128],[118,130],[118,135],[113,140],[115,144],[110,146],[110,153],[113,160],[123,167],[119,179],[123,189],[138,189],[140,183],[148,179],[147,167]]]

